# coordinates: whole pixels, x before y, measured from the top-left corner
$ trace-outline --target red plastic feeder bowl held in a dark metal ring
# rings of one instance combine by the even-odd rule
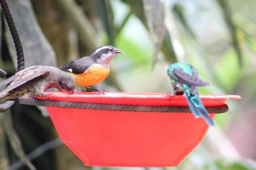
[[[187,106],[185,96],[163,93],[56,92],[49,100],[150,106]],[[205,106],[222,106],[235,95],[200,95]],[[89,166],[178,166],[203,140],[208,125],[191,113],[46,107],[62,141]],[[214,118],[215,113],[210,114]]]

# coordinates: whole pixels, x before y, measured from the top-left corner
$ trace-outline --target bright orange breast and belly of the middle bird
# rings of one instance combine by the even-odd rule
[[[109,75],[109,72],[109,68],[94,64],[82,74],[70,74],[74,77],[76,85],[88,87],[102,82]]]

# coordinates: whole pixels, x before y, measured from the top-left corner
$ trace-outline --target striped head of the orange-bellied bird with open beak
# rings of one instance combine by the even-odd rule
[[[110,60],[118,53],[125,54],[123,50],[114,48],[111,45],[105,45],[97,48],[94,53],[91,54],[95,63],[109,64]]]

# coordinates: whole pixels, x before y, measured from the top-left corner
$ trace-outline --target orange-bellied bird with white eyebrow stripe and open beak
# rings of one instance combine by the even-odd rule
[[[76,85],[104,94],[103,90],[89,86],[102,82],[109,75],[109,62],[118,53],[125,54],[123,50],[105,45],[97,48],[89,56],[66,63],[60,69],[73,76]]]

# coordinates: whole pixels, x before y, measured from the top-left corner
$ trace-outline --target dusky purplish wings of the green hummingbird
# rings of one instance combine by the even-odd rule
[[[173,69],[174,75],[178,78],[178,82],[191,86],[207,86],[210,85],[208,82],[204,82],[202,79],[199,79],[198,72],[193,70],[193,76],[190,76],[188,73],[184,73],[182,68]]]

